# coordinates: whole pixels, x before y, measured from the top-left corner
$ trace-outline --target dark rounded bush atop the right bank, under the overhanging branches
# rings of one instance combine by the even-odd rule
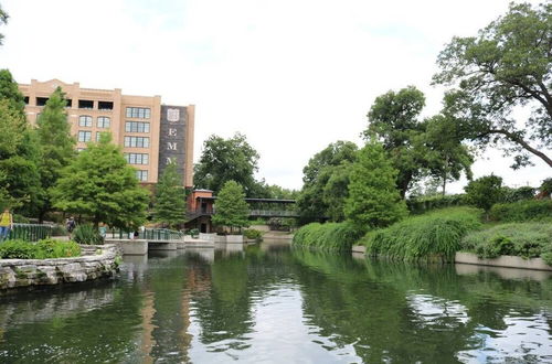
[[[488,212],[493,204],[502,200],[502,179],[497,175],[481,176],[464,188],[466,202]]]

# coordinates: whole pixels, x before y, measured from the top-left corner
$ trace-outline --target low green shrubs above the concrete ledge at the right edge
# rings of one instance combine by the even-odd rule
[[[543,256],[546,264],[552,254],[552,225],[543,223],[512,223],[473,232],[463,239],[463,250],[474,251],[480,258],[500,255],[535,258]]]

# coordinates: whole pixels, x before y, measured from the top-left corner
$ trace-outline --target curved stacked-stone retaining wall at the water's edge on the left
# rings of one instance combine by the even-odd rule
[[[112,244],[81,246],[82,256],[56,259],[0,259],[0,290],[17,287],[82,282],[113,277],[119,249]],[[96,254],[97,250],[100,254]]]

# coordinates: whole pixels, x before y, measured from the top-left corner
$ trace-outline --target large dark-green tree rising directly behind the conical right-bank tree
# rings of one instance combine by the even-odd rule
[[[376,97],[368,114],[364,138],[375,137],[383,143],[399,171],[396,185],[402,197],[413,183],[425,176],[444,179],[445,188],[446,182],[459,179],[461,171],[468,176],[471,173],[473,158],[461,146],[461,138],[449,128],[450,118],[438,115],[420,120],[424,105],[424,94],[408,86]],[[438,135],[442,131],[446,131],[446,139]]]

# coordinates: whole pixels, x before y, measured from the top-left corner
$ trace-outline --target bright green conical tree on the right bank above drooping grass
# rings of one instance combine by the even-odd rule
[[[407,214],[396,189],[396,174],[383,146],[373,138],[359,151],[353,163],[346,216],[361,229],[391,225]]]

